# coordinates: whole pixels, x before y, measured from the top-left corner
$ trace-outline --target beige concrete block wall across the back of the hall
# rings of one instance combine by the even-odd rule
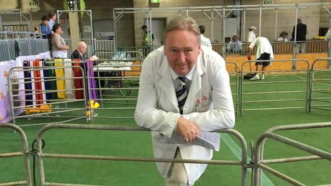
[[[0,0],[2,5],[1,8],[19,8],[22,11],[26,12],[30,10],[31,6],[29,5],[30,0],[15,0],[15,1],[5,1]],[[86,0],[86,9],[91,9],[93,13],[93,19],[113,19],[113,8],[122,8],[122,7],[134,7],[134,8],[148,8],[148,7],[161,7],[161,8],[171,8],[171,7],[191,7],[191,6],[222,6],[222,5],[233,5],[235,0],[167,0],[160,1],[159,4],[151,5],[148,0],[101,0],[101,1],[92,1]],[[295,0],[274,0],[274,4],[295,4],[295,3],[330,3],[331,0],[301,0],[297,2]],[[258,2],[254,0],[242,0],[242,5],[254,5]],[[262,1],[260,2],[262,3]],[[327,6],[331,8],[331,6]],[[32,28],[40,24],[40,18],[43,15],[46,15],[48,12],[63,10],[62,1],[58,0],[40,0],[39,2],[39,11],[32,13]],[[307,8],[302,8],[302,11],[307,13]],[[210,17],[211,13],[206,12]],[[222,13],[222,12],[221,12]],[[155,18],[167,18],[167,21],[171,20],[173,17],[178,16],[178,12],[171,11],[155,11],[152,13],[152,17]],[[186,12],[182,12],[181,15],[186,15]],[[189,16],[196,19],[198,24],[204,24],[206,26],[207,38],[211,38],[211,21],[203,12],[189,12]],[[28,15],[29,17],[30,15]],[[216,16],[216,13],[214,13]],[[261,27],[261,36],[267,37],[269,40],[274,40],[275,38],[275,11],[274,10],[263,10],[262,11],[262,27]],[[311,39],[314,36],[318,36],[319,27],[328,27],[329,15],[326,10],[322,7],[310,6],[307,17],[298,11],[298,17],[302,18],[302,22],[308,26],[308,39]],[[119,46],[141,46],[143,39],[143,32],[141,26],[144,24],[144,18],[146,18],[146,13],[135,13],[135,14],[125,14],[116,24],[117,26],[117,38]],[[83,25],[90,25],[90,19],[87,15],[84,16],[82,20]],[[292,9],[280,9],[278,11],[278,28],[276,31],[276,36],[279,37],[279,34],[285,30],[289,33],[288,38],[291,38],[293,25],[295,24],[294,20],[294,6]],[[251,25],[259,26],[259,11],[246,11],[246,23],[243,27],[243,11],[241,11],[241,40],[243,37],[246,37],[248,28]],[[218,16],[214,21],[214,39],[222,41],[223,36],[223,19]],[[243,35],[243,30],[245,30],[245,36]],[[32,30],[31,30],[32,31]],[[258,31],[258,30],[257,30]],[[259,36],[259,32],[256,33]],[[84,37],[90,37],[90,33],[84,33]]]

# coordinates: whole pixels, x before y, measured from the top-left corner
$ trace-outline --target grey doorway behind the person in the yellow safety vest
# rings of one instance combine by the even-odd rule
[[[144,19],[144,24],[147,25],[146,18]],[[166,24],[167,18],[152,18],[152,33],[154,34],[153,45],[163,45],[163,30]]]

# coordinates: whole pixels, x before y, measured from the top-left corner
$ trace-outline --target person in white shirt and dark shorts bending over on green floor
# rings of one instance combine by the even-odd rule
[[[253,48],[256,46],[256,60],[273,60],[273,50],[272,46],[267,38],[264,37],[258,37],[255,38],[255,40],[252,41],[251,45],[249,46],[249,55],[248,59],[251,60],[251,53]],[[264,71],[270,64],[269,61],[267,62],[256,62],[256,73],[253,78],[250,80],[258,80],[260,79],[258,72],[261,71],[262,66],[262,76],[261,79],[264,80]]]

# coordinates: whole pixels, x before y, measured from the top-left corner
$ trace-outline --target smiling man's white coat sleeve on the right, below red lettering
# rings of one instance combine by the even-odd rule
[[[212,59],[211,59],[212,60]],[[193,112],[183,115],[195,123],[199,131],[233,128],[235,114],[230,88],[230,78],[225,67],[225,61],[220,58],[214,65],[207,67],[211,86],[213,109],[205,112]]]

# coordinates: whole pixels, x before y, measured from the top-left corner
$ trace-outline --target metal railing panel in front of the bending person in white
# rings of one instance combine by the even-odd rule
[[[272,62],[272,63],[280,63],[280,62],[297,62],[297,61],[303,61],[304,66],[306,66],[304,69],[289,69],[289,70],[268,70],[268,71],[252,71],[252,70],[244,70],[244,66],[246,64],[251,65],[251,63],[254,62]],[[294,63],[295,65],[296,63]],[[297,65],[297,64],[296,64]],[[244,82],[244,74],[246,73],[273,73],[273,72],[306,72],[307,78],[304,80],[290,80],[290,81],[250,81],[250,82]],[[280,90],[274,90],[274,91],[254,91],[254,92],[245,92],[245,86],[247,84],[254,84],[254,85],[266,85],[266,84],[275,84],[275,83],[300,83],[304,82],[306,85],[304,85],[302,89],[300,90],[286,90],[286,91],[280,91]],[[254,88],[256,89],[256,88]],[[261,95],[270,95],[270,94],[292,94],[292,93],[299,93],[299,92],[306,92],[306,98],[300,98],[300,99],[275,99],[275,100],[252,100],[252,101],[245,101],[244,96],[245,95],[253,95],[253,96],[261,96]],[[307,59],[280,59],[280,60],[250,60],[250,61],[244,61],[244,63],[241,65],[241,74],[240,74],[240,115],[242,116],[243,111],[254,111],[254,110],[276,110],[276,109],[300,109],[305,108],[306,112],[308,112],[309,108],[309,61]],[[253,109],[244,109],[244,104],[258,104],[258,103],[272,103],[272,102],[302,102],[304,101],[306,104],[305,106],[300,107],[277,107],[277,108],[253,108]]]

